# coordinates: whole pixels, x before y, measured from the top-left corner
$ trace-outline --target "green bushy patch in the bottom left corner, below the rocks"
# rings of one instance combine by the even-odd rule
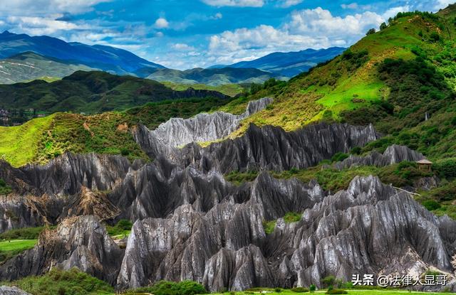
[[[113,287],[108,283],[90,277],[90,275],[73,268],[68,271],[53,268],[41,277],[26,277],[17,281],[4,282],[8,286],[33,295],[101,295],[114,294]]]

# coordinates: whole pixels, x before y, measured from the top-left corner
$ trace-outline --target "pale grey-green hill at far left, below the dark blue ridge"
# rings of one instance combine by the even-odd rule
[[[86,65],[48,58],[32,52],[0,60],[0,84],[13,84],[32,80],[51,82],[78,70],[95,70]]]

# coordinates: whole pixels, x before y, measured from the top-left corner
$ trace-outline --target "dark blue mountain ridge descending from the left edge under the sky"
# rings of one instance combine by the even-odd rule
[[[86,65],[118,75],[132,74],[144,68],[165,68],[120,48],[67,43],[49,36],[32,37],[9,31],[0,33],[0,58],[10,58],[30,51],[65,63]]]

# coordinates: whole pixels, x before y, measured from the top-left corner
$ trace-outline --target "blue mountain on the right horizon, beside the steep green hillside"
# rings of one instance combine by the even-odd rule
[[[346,48],[306,49],[298,52],[271,53],[262,58],[242,61],[233,65],[214,65],[211,68],[256,68],[285,77],[294,77],[306,72],[318,63],[331,60],[343,53]]]

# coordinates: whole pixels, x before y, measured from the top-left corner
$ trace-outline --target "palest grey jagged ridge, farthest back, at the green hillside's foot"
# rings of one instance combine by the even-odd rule
[[[239,127],[242,119],[261,111],[272,101],[272,98],[264,97],[249,102],[244,114],[240,115],[214,112],[197,114],[190,119],[172,118],[152,131],[140,126],[134,132],[135,139],[152,157],[170,155],[175,148],[185,144],[214,141],[228,136]]]

